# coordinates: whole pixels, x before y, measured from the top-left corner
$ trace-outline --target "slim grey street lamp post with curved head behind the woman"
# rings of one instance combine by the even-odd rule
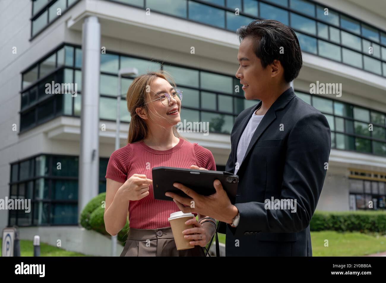
[[[118,71],[117,122],[115,124],[115,150],[120,148],[119,127],[120,127],[120,101],[121,101],[121,97],[122,97],[121,78],[122,78],[122,76],[137,76],[137,74],[138,74],[137,68],[125,68],[125,69],[119,69],[119,71]],[[111,236],[111,240],[112,240],[111,253],[112,253],[112,256],[117,256],[117,239],[118,239],[118,235]]]

